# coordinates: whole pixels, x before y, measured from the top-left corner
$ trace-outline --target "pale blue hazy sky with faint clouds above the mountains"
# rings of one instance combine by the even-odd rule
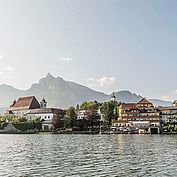
[[[0,84],[47,73],[177,99],[176,0],[0,0]]]

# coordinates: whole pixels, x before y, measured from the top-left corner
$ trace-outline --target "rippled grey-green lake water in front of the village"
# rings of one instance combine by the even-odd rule
[[[0,176],[177,176],[177,136],[0,135]]]

